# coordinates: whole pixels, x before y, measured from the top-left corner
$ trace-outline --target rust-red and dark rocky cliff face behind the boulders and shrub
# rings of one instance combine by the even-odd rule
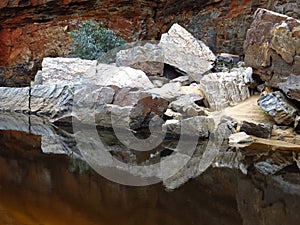
[[[68,32],[82,20],[98,20],[121,31],[128,40],[157,39],[178,22],[215,52],[243,54],[246,31],[258,7],[300,18],[297,2],[3,0],[0,3],[0,83],[27,85],[42,58],[69,54],[72,40]]]

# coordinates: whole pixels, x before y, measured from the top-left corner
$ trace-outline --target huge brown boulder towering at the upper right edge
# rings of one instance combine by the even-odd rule
[[[300,20],[258,9],[245,40],[245,63],[267,85],[300,101]]]

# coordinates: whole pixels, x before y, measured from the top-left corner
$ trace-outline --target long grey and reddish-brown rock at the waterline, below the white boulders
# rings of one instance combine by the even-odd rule
[[[99,94],[101,90],[103,94]],[[76,110],[73,110],[72,115],[81,123],[139,129],[147,127],[153,117],[161,117],[169,104],[165,99],[153,98],[150,93],[132,91],[128,88],[114,90],[102,87],[101,90],[94,88],[93,93],[100,96],[95,102],[91,102],[90,97],[86,96],[89,92],[82,89],[76,90],[76,96],[79,97],[76,98]],[[106,101],[104,97],[101,98],[102,95],[106,97]],[[92,96],[91,99],[97,98]]]

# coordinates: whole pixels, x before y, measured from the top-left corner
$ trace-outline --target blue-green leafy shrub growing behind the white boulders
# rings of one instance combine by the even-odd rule
[[[126,43],[117,32],[94,21],[83,22],[71,32],[71,37],[74,39],[72,53],[82,59],[98,59],[109,50]]]

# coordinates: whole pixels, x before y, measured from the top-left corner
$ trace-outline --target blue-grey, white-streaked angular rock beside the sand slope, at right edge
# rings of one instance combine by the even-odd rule
[[[280,91],[261,96],[257,103],[277,124],[288,126],[295,122],[298,110]]]

